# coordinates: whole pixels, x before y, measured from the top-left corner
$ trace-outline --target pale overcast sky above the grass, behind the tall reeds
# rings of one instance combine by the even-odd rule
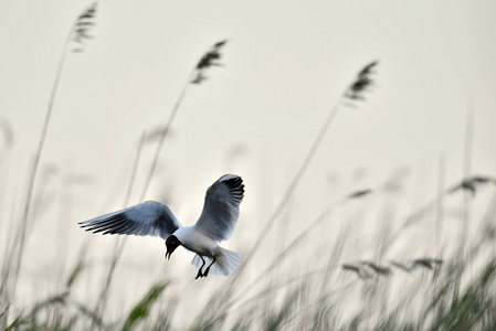
[[[0,163],[3,228],[22,210],[64,41],[91,3],[0,1],[0,120],[14,139]],[[243,217],[267,220],[340,94],[374,60],[374,86],[338,113],[295,192],[295,217],[399,172],[411,209],[435,195],[440,164],[446,186],[460,182],[469,107],[471,172],[496,174],[494,1],[107,0],[95,21],[94,39],[63,67],[40,168],[55,175],[36,183],[54,203],[31,252],[46,242],[50,215],[83,243],[76,222],[123,206],[143,132],[165,124],[198,60],[225,39],[223,66],[188,89],[146,196],[167,199],[182,224],[196,222],[208,185],[238,173],[246,194],[233,241],[247,245],[260,226]],[[74,173],[87,180],[67,186]]]

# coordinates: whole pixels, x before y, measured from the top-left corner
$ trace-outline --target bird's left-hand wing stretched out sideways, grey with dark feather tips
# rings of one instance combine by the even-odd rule
[[[169,207],[156,201],[146,201],[80,224],[93,233],[159,236],[163,239],[181,227]]]

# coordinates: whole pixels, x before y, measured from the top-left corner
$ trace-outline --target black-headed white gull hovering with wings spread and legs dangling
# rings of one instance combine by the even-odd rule
[[[166,241],[166,258],[176,248],[197,253],[192,265],[199,268],[196,279],[213,275],[228,276],[241,263],[240,255],[219,246],[231,237],[240,217],[243,200],[243,180],[224,174],[208,190],[203,211],[192,226],[182,227],[169,207],[156,201],[146,201],[128,209],[81,222],[81,227],[93,233],[159,236]],[[209,266],[203,271],[207,261]]]

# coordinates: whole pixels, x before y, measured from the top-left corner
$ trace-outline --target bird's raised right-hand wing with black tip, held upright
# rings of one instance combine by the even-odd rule
[[[194,227],[215,242],[229,239],[240,217],[244,185],[240,177],[221,177],[207,190],[203,211]]]

